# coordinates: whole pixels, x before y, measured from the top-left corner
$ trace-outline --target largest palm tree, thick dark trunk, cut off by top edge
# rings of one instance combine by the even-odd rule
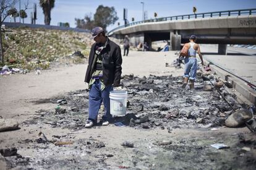
[[[49,25],[51,22],[51,9],[54,7],[54,2],[55,0],[40,0],[40,7],[45,15],[45,25]]]

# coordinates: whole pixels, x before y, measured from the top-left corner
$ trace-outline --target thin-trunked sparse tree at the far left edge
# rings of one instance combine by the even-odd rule
[[[10,9],[14,8],[15,0],[1,0],[0,1],[0,59],[2,64],[4,64],[4,49],[2,48],[2,23],[9,16]]]

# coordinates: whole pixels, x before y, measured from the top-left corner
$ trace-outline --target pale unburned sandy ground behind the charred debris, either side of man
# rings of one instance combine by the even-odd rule
[[[130,51],[129,56],[123,57],[122,75],[182,75],[182,69],[165,67],[166,62],[171,64],[176,59],[174,53]],[[32,71],[26,75],[1,76],[0,95],[4,97],[0,103],[1,116],[11,118],[30,115],[38,109],[43,109],[43,105],[35,106],[33,101],[88,88],[83,82],[86,68],[85,64],[54,66],[50,70],[43,70],[40,75]]]

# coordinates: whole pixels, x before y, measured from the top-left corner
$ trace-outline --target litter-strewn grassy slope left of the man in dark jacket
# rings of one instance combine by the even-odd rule
[[[3,40],[5,64],[28,70],[84,63],[94,43],[90,33],[26,27],[7,28]]]

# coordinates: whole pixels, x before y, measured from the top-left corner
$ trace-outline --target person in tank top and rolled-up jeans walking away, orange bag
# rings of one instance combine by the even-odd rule
[[[191,35],[189,38],[189,43],[184,45],[185,49],[188,49],[188,55],[185,57],[185,70],[184,70],[184,82],[182,88],[186,88],[187,83],[189,82],[190,89],[194,89],[195,75],[197,74],[197,58],[196,54],[198,53],[201,63],[203,66],[203,56],[200,51],[200,46],[195,43],[197,41],[197,36]],[[181,57],[182,53],[180,54]]]

